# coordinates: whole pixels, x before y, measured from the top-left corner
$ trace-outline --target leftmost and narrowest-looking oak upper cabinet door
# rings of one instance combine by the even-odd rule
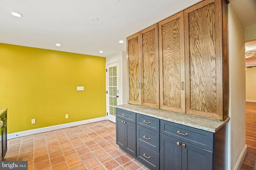
[[[129,74],[129,104],[141,105],[140,33],[126,39]]]

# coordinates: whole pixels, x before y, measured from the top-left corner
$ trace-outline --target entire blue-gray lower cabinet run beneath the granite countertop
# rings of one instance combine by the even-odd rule
[[[116,109],[116,143],[151,170],[226,170],[227,125],[216,133]]]

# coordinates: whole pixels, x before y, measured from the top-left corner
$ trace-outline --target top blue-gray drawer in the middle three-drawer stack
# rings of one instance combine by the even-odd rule
[[[141,114],[136,115],[136,122],[138,125],[159,132],[160,120],[154,117],[149,117]]]

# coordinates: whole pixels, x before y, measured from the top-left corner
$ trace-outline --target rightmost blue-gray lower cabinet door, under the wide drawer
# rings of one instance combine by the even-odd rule
[[[213,170],[213,153],[182,142],[182,170]]]

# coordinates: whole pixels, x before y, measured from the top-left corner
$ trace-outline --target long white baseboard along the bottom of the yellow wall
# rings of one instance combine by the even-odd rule
[[[43,133],[43,132],[47,132],[47,131],[53,131],[53,130],[57,130],[57,129],[63,129],[63,128],[67,128],[67,127],[73,127],[73,126],[83,125],[86,123],[92,123],[92,122],[102,121],[102,120],[107,120],[107,117],[104,116],[104,117],[98,117],[98,118],[94,118],[94,119],[83,120],[83,121],[76,121],[76,122],[72,122],[72,123],[65,123],[65,124],[60,124],[60,125],[42,127],[42,128],[32,129],[32,130],[28,130],[28,131],[10,133],[10,134],[7,134],[7,139],[23,137],[23,136],[27,136],[27,135],[34,135],[36,133]]]

